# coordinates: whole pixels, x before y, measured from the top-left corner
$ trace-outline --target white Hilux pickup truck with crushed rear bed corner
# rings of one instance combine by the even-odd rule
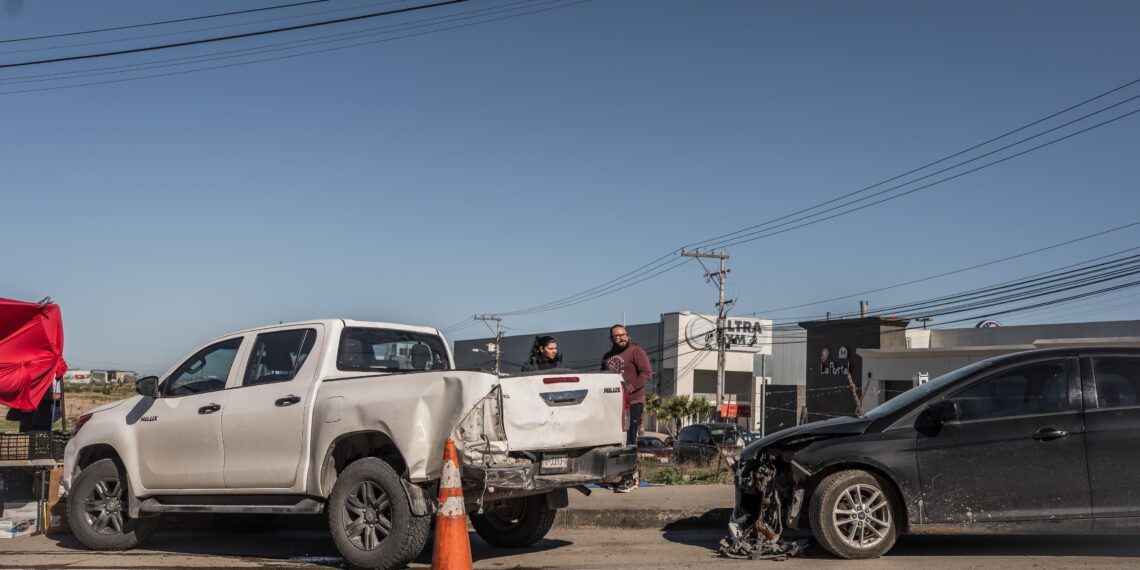
[[[228,334],[75,422],[71,528],[89,548],[127,549],[161,513],[327,513],[351,565],[396,568],[427,539],[451,438],[475,531],[529,545],[568,488],[636,469],[620,380],[458,370],[438,331],[386,323]]]

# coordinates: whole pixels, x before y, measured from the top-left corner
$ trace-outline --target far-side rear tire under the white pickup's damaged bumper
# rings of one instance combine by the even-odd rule
[[[546,536],[557,511],[546,505],[546,495],[496,500],[482,514],[471,514],[479,538],[504,548],[530,546]]]

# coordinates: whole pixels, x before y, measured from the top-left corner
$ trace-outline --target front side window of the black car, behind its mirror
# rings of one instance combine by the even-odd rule
[[[1069,409],[1067,359],[1017,366],[983,378],[951,398],[959,420],[986,420]]]

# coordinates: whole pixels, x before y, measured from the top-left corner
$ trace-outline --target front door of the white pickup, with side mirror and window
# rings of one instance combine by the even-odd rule
[[[223,486],[221,413],[241,345],[237,336],[195,352],[162,381],[160,397],[136,420],[146,488]]]

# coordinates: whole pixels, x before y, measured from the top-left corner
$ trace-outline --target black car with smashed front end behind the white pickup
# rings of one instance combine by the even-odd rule
[[[725,544],[771,548],[809,527],[869,559],[904,532],[1135,532],[1137,473],[1140,349],[1020,352],[748,446]]]

